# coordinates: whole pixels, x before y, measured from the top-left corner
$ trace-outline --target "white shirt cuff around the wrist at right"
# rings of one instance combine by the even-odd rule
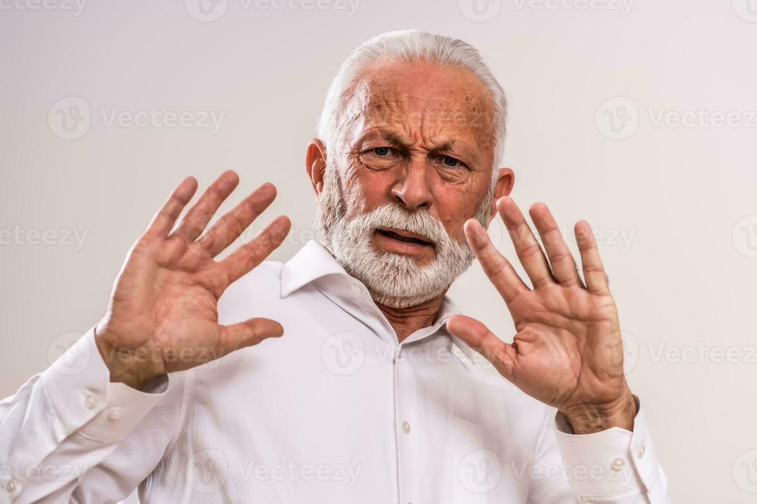
[[[647,493],[657,475],[657,457],[638,397],[634,431],[613,427],[593,434],[573,434],[565,416],[557,413],[557,444],[565,473],[576,495],[621,496]]]

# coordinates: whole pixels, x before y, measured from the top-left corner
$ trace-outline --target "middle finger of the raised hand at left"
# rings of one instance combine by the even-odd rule
[[[266,182],[210,226],[194,246],[210,257],[215,257],[234,243],[275,198],[276,187]]]

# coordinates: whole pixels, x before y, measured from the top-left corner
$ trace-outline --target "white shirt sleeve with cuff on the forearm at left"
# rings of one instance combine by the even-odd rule
[[[180,382],[172,377],[168,390],[163,379],[145,391],[111,383],[94,331],[87,332],[0,401],[0,504],[99,504],[128,496],[173,438]],[[135,430],[143,433],[139,443],[120,450]]]

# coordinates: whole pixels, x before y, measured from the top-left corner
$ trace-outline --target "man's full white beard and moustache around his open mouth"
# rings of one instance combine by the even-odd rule
[[[473,252],[465,237],[451,237],[444,224],[429,212],[410,212],[399,203],[387,203],[347,218],[343,196],[338,173],[333,166],[327,167],[316,209],[316,237],[344,271],[366,286],[375,302],[390,308],[420,305],[447,292],[453,280],[471,265]],[[475,215],[484,227],[493,196],[494,181]],[[435,257],[419,266],[410,255],[376,250],[371,240],[380,227],[428,238],[434,243]]]

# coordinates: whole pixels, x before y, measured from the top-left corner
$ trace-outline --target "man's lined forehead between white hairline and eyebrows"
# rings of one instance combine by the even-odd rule
[[[490,129],[492,110],[484,86],[467,69],[427,62],[375,63],[354,86],[343,120],[391,124],[423,116]]]

